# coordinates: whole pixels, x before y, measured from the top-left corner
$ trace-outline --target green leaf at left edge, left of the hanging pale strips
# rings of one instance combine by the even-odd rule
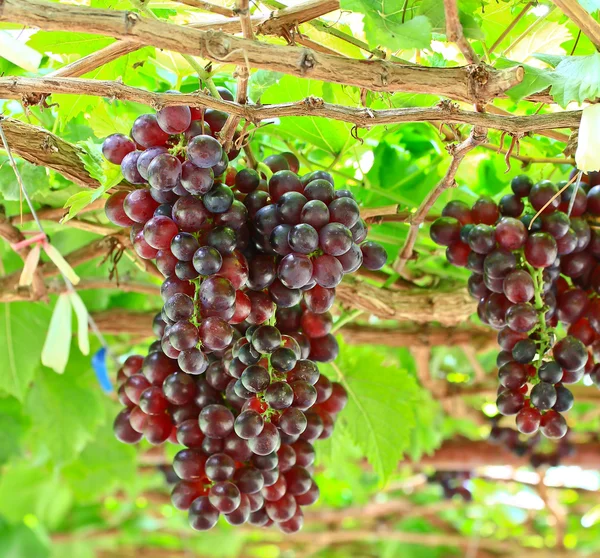
[[[42,303],[11,302],[0,309],[0,390],[19,400],[39,365],[50,316]]]

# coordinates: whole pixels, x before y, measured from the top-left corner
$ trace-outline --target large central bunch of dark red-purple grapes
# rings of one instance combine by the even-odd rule
[[[114,428],[125,443],[183,446],[172,502],[192,528],[223,515],[292,533],[319,497],[313,444],[348,400],[317,366],[339,352],[335,288],[387,255],[329,173],[299,176],[292,153],[260,172],[230,165],[238,153],[218,141],[226,119],[170,106],[104,141],[134,185],[107,200],[107,217],[164,276],[157,339],[118,373]]]

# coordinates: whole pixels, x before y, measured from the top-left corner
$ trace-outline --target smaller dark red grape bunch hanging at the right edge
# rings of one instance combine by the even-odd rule
[[[511,189],[499,203],[449,202],[430,234],[471,271],[478,316],[498,330],[499,412],[516,415],[523,434],[558,439],[574,403],[567,386],[589,374],[600,387],[600,175],[580,184],[521,175]]]

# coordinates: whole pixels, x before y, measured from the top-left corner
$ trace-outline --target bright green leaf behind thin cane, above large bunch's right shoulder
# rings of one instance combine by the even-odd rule
[[[284,76],[277,85],[271,86],[263,94],[261,101],[264,104],[285,103],[299,101],[311,95],[335,102],[341,99],[344,93],[337,85],[326,88],[319,81]],[[277,126],[277,132],[283,132],[290,138],[301,138],[332,155],[343,152],[349,142],[356,141],[350,135],[351,129],[352,126],[345,122],[312,116],[282,118],[281,124]]]

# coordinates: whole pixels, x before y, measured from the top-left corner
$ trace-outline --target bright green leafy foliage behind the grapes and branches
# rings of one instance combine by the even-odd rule
[[[127,0],[75,3],[135,8]],[[595,0],[580,3],[597,17],[600,3]],[[149,5],[160,18],[177,23],[215,17],[176,2],[153,0]],[[553,4],[530,2],[526,15],[494,49],[492,45],[525,3],[461,0],[459,6],[465,35],[485,61],[497,68],[522,64],[526,69],[524,82],[509,91],[507,98],[496,100],[496,107],[511,114],[533,114],[568,105],[571,108],[599,96],[600,54]],[[254,9],[256,13],[259,10],[268,13],[276,7],[281,5],[264,1]],[[369,49],[382,49],[393,59],[433,67],[464,64],[458,48],[445,39],[440,1],[342,0],[341,8],[343,12],[322,18],[325,27],[305,24],[300,31],[351,57],[370,54],[357,44],[327,32],[329,28],[349,33],[364,41]],[[14,25],[2,25],[0,34],[10,45],[2,49],[0,71],[16,76],[48,74],[113,41],[80,33],[35,32]],[[273,37],[261,40],[283,43]],[[218,85],[235,88],[231,77],[233,67],[213,70]],[[199,87],[197,76],[180,55],[150,47],[84,77],[120,80],[151,91],[189,92]],[[556,104],[540,105],[524,100],[548,87]],[[361,93],[357,88],[266,70],[254,71],[249,83],[250,99],[263,104],[296,101],[311,95],[352,107],[366,102],[373,109],[426,107],[439,101],[435,95]],[[128,133],[133,120],[147,107],[83,95],[53,95],[51,101],[51,108],[43,110],[39,107],[25,110],[17,101],[2,101],[1,108],[5,115],[51,130],[84,149],[86,168],[104,186],[102,190],[83,191],[53,171],[19,161],[20,172],[36,205],[54,208],[67,205],[72,216],[76,216],[120,179],[118,169],[109,168],[99,156],[101,140],[114,132]],[[302,171],[330,170],[338,186],[350,188],[365,208],[397,204],[399,211],[411,211],[445,173],[449,162],[446,144],[466,136],[468,131],[468,126],[444,126],[438,130],[428,123],[357,130],[339,121],[289,117],[265,122],[253,130],[251,146],[258,158],[290,150],[300,158]],[[510,179],[522,172],[534,180],[565,178],[572,168],[562,154],[568,138],[564,134],[558,136],[560,139],[554,136],[526,136],[520,141],[519,156],[505,160],[504,153],[498,150],[506,150],[510,138],[490,131],[489,143],[472,152],[462,164],[457,176],[459,187],[442,196],[432,213],[439,213],[451,198],[472,201],[480,195],[498,197],[507,191]],[[4,154],[0,155],[0,196],[6,215],[18,215],[21,210],[18,184]],[[52,244],[62,254],[99,238],[77,227],[78,220],[108,226],[102,211],[63,224],[45,223]],[[24,223],[22,228],[33,229],[30,223]],[[467,275],[445,263],[443,253],[430,241],[426,226],[416,244],[418,258],[410,262],[405,276],[400,278],[393,263],[407,230],[402,222],[372,225],[371,237],[386,246],[390,265],[384,269],[384,275],[362,278],[363,281],[386,288],[409,281],[413,288],[440,291],[466,284]],[[0,244],[0,256],[3,273],[20,269],[22,263],[7,243]],[[127,257],[121,259],[118,268],[122,283],[155,283]],[[99,259],[76,269],[85,279],[106,279],[108,270],[109,264]],[[93,314],[116,309],[150,313],[161,305],[158,296],[124,292],[117,285],[80,294]],[[90,355],[83,355],[74,339],[64,374],[58,375],[41,365],[44,338],[55,304],[56,297],[52,296],[50,304],[0,305],[0,555],[92,558],[134,555],[136,548],[143,548],[150,557],[179,556],[179,550],[186,550],[190,555],[195,552],[223,558],[242,555],[267,558],[282,555],[286,549],[294,552],[294,547],[286,547],[285,542],[280,542],[282,537],[275,533],[223,525],[215,532],[198,536],[187,529],[185,517],[168,504],[165,474],[155,465],[161,462],[160,454],[144,444],[135,448],[123,446],[112,436],[112,418],[118,405],[114,393],[101,388],[91,360],[100,349],[99,343],[93,339]],[[346,320],[348,312],[339,308],[337,316]],[[355,323],[373,327],[410,327],[410,324],[385,323],[364,314],[353,317]],[[471,325],[476,321],[473,318]],[[64,321],[59,326],[63,327]],[[527,483],[494,481],[492,477],[502,475],[486,470],[471,481],[473,503],[443,501],[439,486],[424,483],[420,467],[411,462],[433,454],[444,440],[457,436],[485,440],[489,424],[484,417],[495,414],[493,393],[468,400],[468,407],[483,422],[474,422],[472,416],[453,416],[447,409],[444,412],[432,393],[419,382],[409,347],[344,343],[343,327],[339,333],[341,356],[335,367],[326,366],[323,371],[344,383],[350,403],[334,436],[318,444],[322,498],[314,521],[309,521],[308,531],[323,529],[318,522],[320,513],[343,509],[346,511],[340,515],[342,519],[334,522],[338,528],[360,532],[369,530],[376,521],[375,525],[392,533],[418,534],[427,545],[407,544],[401,538],[394,540],[385,534],[373,536],[371,531],[367,540],[355,543],[353,556],[461,555],[464,545],[457,543],[460,538],[471,540],[476,553],[480,546],[492,555],[502,554],[501,546],[494,544],[496,541],[504,541],[502,548],[514,554],[522,552],[518,545],[544,549],[557,543],[590,556],[600,552],[597,537],[600,507],[594,492],[600,486],[600,477],[596,472],[577,473],[576,479],[572,471],[564,468],[548,472],[547,478],[553,475],[554,484],[573,487],[557,489],[548,496],[547,491]],[[126,327],[121,334],[108,335],[107,341],[115,354],[123,356],[142,350],[149,342],[128,334]],[[460,390],[476,384],[477,375],[483,370],[493,384],[493,352],[480,352],[474,358],[469,358],[461,347],[435,347],[429,361],[430,375],[435,381],[448,382]],[[110,359],[108,365],[114,378]],[[599,415],[589,403],[577,404],[570,415],[578,433],[598,432]],[[167,451],[170,455],[174,453],[173,448]],[[431,469],[425,468],[428,471]],[[509,473],[511,478],[516,475],[521,481],[535,477],[526,471]],[[573,481],[577,484],[569,485]],[[356,513],[356,506],[367,504],[371,508],[367,506],[364,513]],[[393,513],[388,515],[387,522],[373,520],[378,516],[372,517],[366,511],[377,505],[392,506]],[[438,545],[427,542],[432,534],[442,536],[436,539]],[[318,539],[315,540],[315,544],[308,545],[307,552],[323,557],[349,555],[343,547],[327,542],[319,546]],[[418,542],[418,538],[415,540]],[[353,540],[345,542],[352,544]]]

